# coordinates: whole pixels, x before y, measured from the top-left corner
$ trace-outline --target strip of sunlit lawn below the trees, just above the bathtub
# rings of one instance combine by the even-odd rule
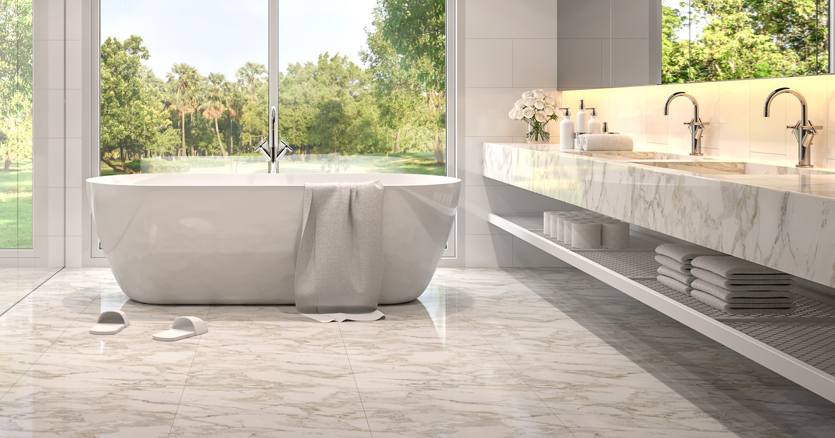
[[[305,161],[301,161],[305,158]],[[281,160],[282,174],[334,173],[338,167],[342,174],[432,174],[444,175],[446,168],[438,166],[434,154],[367,154],[334,155],[289,155]],[[129,169],[142,173],[189,172],[192,174],[262,174],[269,169],[261,154],[241,154],[225,159],[194,157],[168,161],[164,159],[141,159],[128,162]],[[112,175],[114,170],[101,164],[102,175]]]

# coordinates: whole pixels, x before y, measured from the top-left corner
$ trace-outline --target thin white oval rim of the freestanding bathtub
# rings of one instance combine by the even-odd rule
[[[231,176],[236,175],[236,176]],[[109,186],[124,186],[124,187],[300,187],[303,188],[305,186],[304,182],[301,184],[188,184],[185,181],[180,182],[163,182],[162,184],[148,184],[145,182],[145,179],[149,179],[148,177],[168,177],[171,179],[189,179],[189,178],[206,178],[210,179],[211,177],[220,176],[222,178],[240,178],[245,179],[245,177],[252,177],[252,175],[271,175],[271,174],[119,174],[119,175],[104,175],[104,176],[96,176],[85,179],[87,184],[101,184],[101,185],[109,185]],[[379,179],[382,183],[383,187],[425,187],[425,186],[434,186],[434,185],[445,185],[445,184],[461,184],[461,179],[446,176],[446,175],[430,175],[430,174],[276,174],[279,177],[286,176],[287,178],[295,176],[296,178],[305,177],[305,176],[321,176],[321,175],[328,175],[335,178],[333,181],[316,181],[313,184],[321,184],[326,182],[333,182],[333,183],[342,183],[346,181],[339,181],[337,176],[362,176],[362,177],[369,177],[369,179],[363,179],[362,181],[357,182],[366,182],[366,181],[373,181],[375,179]],[[407,177],[408,179],[427,179],[425,182],[410,182],[410,184],[403,184],[403,183],[390,183],[387,184],[384,179],[392,179],[395,177]],[[270,176],[256,176],[256,179],[266,179],[272,178]],[[115,179],[125,180],[125,179],[139,179],[139,181],[123,181],[117,182],[114,181]],[[241,181],[243,182],[243,181]]]

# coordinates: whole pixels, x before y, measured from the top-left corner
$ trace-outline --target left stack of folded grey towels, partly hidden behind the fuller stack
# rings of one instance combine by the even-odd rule
[[[723,255],[719,251],[697,244],[662,244],[655,248],[658,267],[658,282],[670,289],[690,295],[691,284],[696,277],[691,274],[691,262],[704,255]]]

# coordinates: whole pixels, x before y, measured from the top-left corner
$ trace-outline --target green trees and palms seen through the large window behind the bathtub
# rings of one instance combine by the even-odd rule
[[[294,159],[380,155],[408,161],[389,171],[445,174],[445,2],[378,0],[373,14],[359,53],[367,68],[321,53],[273,78],[281,137]],[[162,77],[144,66],[151,56],[139,35],[102,43],[103,174],[187,172],[250,154],[261,160],[253,151],[267,134],[264,64],[245,63],[226,78],[175,63]]]

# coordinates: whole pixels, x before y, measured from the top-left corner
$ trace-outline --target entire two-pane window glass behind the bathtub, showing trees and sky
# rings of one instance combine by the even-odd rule
[[[101,174],[266,172],[271,104],[282,173],[446,174],[444,0],[269,3],[100,3]]]

